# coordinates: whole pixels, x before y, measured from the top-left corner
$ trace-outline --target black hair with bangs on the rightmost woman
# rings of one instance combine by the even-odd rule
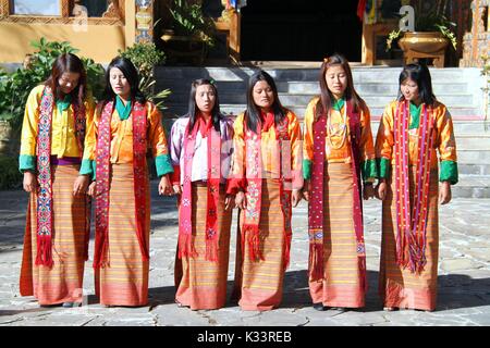
[[[403,67],[399,78],[399,101],[404,99],[402,94],[402,84],[407,79],[414,80],[418,86],[418,95],[420,100],[426,105],[433,107],[437,101],[432,92],[432,78],[430,77],[429,69],[426,64],[414,63],[407,64]]]

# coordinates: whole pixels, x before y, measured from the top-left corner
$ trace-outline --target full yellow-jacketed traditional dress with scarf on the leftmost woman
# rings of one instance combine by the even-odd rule
[[[87,195],[73,195],[82,164],[85,130],[93,123],[90,97],[78,105],[56,100],[44,85],[27,99],[21,136],[21,172],[37,176],[30,194],[21,270],[21,295],[39,304],[82,302],[87,260]]]

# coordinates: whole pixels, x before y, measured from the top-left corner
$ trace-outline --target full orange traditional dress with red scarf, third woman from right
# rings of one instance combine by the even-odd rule
[[[234,123],[234,152],[228,192],[243,190],[234,297],[243,310],[271,310],[282,299],[291,247],[291,191],[303,187],[302,132],[285,110],[281,124],[262,114],[259,134],[247,129],[244,114]]]

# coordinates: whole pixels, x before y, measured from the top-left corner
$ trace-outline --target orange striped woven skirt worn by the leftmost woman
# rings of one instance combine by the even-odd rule
[[[79,165],[53,165],[52,259],[53,266],[35,265],[37,254],[37,194],[27,207],[20,290],[39,304],[82,302],[84,265],[89,238],[88,198],[73,196]]]

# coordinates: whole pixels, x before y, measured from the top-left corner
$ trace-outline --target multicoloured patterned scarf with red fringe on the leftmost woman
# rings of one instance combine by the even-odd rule
[[[83,153],[85,139],[85,107],[73,103],[76,139]],[[36,265],[51,268],[52,260],[52,177],[51,177],[51,122],[54,95],[49,86],[42,90],[39,105],[37,134],[37,254]]]

